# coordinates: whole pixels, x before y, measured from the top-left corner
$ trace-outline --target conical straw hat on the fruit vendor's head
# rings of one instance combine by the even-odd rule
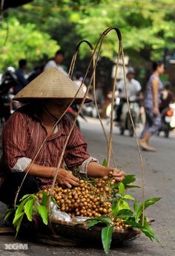
[[[57,68],[47,68],[46,71],[39,74],[27,86],[24,87],[13,100],[30,101],[37,99],[73,99],[79,87],[65,76]],[[76,95],[75,103],[80,103],[85,96],[85,92],[80,89]],[[85,102],[90,102],[90,98],[86,97]]]

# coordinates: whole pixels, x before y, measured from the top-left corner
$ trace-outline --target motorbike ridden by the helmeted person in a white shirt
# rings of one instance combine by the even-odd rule
[[[138,120],[139,120],[139,103],[134,100],[129,102],[129,106],[131,109],[131,116],[133,118],[133,124],[136,125]],[[132,137],[134,134],[133,131],[133,125],[131,123],[131,117],[129,115],[128,111],[128,104],[125,102],[122,106],[122,115],[120,118],[119,122],[119,129],[120,129],[120,134],[123,135],[125,132],[125,129],[128,129],[129,135]]]

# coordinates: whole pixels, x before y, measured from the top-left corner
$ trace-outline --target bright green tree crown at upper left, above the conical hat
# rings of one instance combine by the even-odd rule
[[[8,65],[17,66],[18,60],[22,58],[26,58],[31,65],[45,54],[48,57],[53,57],[59,48],[57,42],[51,39],[48,33],[39,31],[33,23],[22,24],[18,19],[12,17],[8,19],[8,31],[7,36],[7,25],[3,22],[0,31],[0,70]],[[4,45],[6,36],[7,42]]]

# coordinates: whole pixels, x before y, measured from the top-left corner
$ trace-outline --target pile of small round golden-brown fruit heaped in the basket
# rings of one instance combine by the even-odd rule
[[[56,200],[59,211],[66,212],[70,217],[101,217],[102,215],[111,215],[112,211],[112,188],[111,185],[116,180],[110,176],[104,176],[101,179],[80,179],[79,187],[63,188],[55,186],[53,189],[53,198]],[[47,194],[50,188],[46,190]],[[42,193],[37,193],[39,199],[42,199]],[[116,229],[124,229],[124,220],[115,220]]]

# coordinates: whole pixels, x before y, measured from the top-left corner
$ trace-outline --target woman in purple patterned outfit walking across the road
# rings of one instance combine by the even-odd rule
[[[146,96],[144,100],[146,122],[145,128],[141,134],[140,146],[143,150],[156,151],[148,144],[153,134],[158,132],[161,127],[161,115],[159,113],[159,103],[162,91],[162,82],[159,75],[164,72],[164,64],[162,62],[153,63],[153,74],[148,80]]]

